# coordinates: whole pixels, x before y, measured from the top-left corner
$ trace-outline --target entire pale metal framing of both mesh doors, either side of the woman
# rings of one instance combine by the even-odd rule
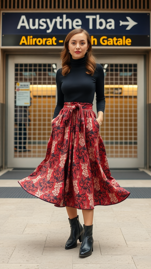
[[[136,63],[138,76],[137,96],[137,123],[138,123],[138,158],[108,158],[110,168],[144,168],[145,157],[145,87],[144,87],[144,57],[143,55],[95,55],[97,63]],[[30,59],[30,60],[29,60]],[[14,130],[14,113],[12,113],[12,100],[14,100],[15,63],[56,63],[57,70],[61,68],[59,55],[9,55],[8,56],[8,100],[7,100],[7,167],[8,168],[34,168],[44,158],[14,158],[14,135],[9,130]],[[93,110],[96,113],[96,94],[93,101]],[[57,100],[57,94],[56,94]],[[14,103],[13,103],[14,108]],[[97,113],[96,113],[97,115]],[[138,121],[139,119],[139,121]],[[11,129],[12,128],[12,129]],[[143,130],[143,131],[142,131]],[[14,132],[14,131],[13,131]],[[101,134],[101,132],[100,132]],[[19,165],[20,164],[20,165]],[[118,165],[117,165],[118,164]]]

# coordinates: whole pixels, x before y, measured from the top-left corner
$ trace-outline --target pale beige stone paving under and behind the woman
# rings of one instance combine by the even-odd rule
[[[17,180],[1,186],[17,186]],[[129,181],[129,183],[128,183]],[[122,186],[150,187],[150,180]],[[78,256],[81,243],[65,250],[70,225],[65,208],[40,199],[1,198],[1,269],[150,269],[151,199],[126,199],[94,209],[94,251]],[[83,217],[78,210],[81,224]]]

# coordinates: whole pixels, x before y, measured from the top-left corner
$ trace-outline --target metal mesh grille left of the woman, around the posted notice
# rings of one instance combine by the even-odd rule
[[[56,107],[56,63],[15,64],[14,157],[45,157]],[[16,106],[16,83],[30,82],[30,107]]]

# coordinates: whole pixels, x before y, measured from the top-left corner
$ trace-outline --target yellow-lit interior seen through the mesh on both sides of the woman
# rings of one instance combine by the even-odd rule
[[[102,64],[102,66],[105,72],[106,106],[100,133],[105,143],[107,157],[135,158],[137,157],[137,65]],[[56,64],[15,65],[15,84],[23,81],[31,84],[30,107],[14,106],[21,111],[22,123],[26,118],[30,119],[21,133],[18,114],[15,114],[15,157],[45,157],[51,134],[51,119],[56,106],[55,76]],[[29,151],[24,150],[25,141]],[[21,151],[18,150],[20,144]]]

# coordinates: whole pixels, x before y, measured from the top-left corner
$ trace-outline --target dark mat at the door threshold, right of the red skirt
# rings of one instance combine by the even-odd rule
[[[112,171],[111,176],[118,179],[151,179],[151,176],[144,171]]]

